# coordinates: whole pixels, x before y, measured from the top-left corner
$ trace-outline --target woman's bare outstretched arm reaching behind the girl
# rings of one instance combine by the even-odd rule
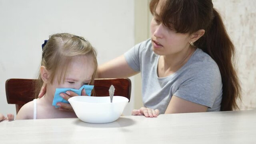
[[[126,62],[124,55],[121,55],[98,67],[96,78],[128,78],[138,74]]]

